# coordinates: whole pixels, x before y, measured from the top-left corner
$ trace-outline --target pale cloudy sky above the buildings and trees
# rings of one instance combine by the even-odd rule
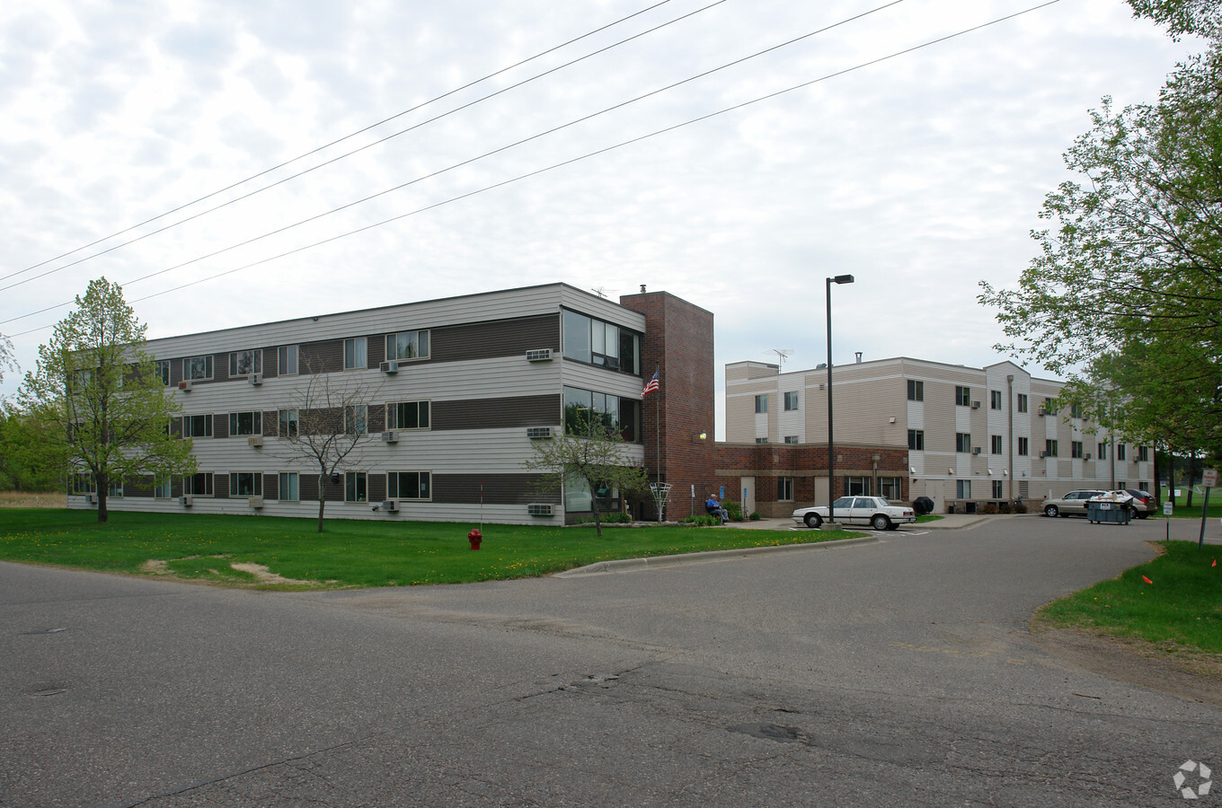
[[[98,276],[150,337],[644,283],[714,312],[720,397],[822,361],[852,273],[836,363],[986,365],[1088,110],[1200,50],[1121,0],[986,26],[1036,5],[5,0],[0,333],[32,369]]]

